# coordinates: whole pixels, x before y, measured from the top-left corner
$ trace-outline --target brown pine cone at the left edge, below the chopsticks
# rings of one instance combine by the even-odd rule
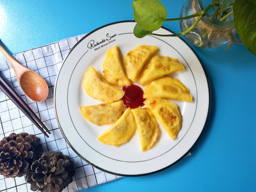
[[[42,152],[40,138],[27,133],[11,133],[0,141],[0,174],[12,178],[26,175]]]

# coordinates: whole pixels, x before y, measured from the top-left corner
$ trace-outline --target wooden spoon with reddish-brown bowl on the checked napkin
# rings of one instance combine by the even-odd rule
[[[0,50],[12,65],[19,86],[25,95],[35,102],[44,101],[49,93],[48,85],[45,80],[34,71],[26,68],[12,58],[12,56],[1,45]]]

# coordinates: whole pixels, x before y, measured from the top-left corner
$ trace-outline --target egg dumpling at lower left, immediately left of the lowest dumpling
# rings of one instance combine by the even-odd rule
[[[131,109],[128,108],[112,127],[102,133],[98,139],[103,144],[119,146],[130,140],[135,128]]]

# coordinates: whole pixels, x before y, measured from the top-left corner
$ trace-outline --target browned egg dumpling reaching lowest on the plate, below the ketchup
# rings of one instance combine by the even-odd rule
[[[141,150],[151,149],[156,142],[159,126],[155,116],[148,108],[131,109],[139,131]]]

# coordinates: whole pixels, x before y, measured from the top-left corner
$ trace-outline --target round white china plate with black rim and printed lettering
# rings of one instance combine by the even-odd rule
[[[210,111],[210,86],[201,62],[194,51],[178,37],[147,35],[138,39],[133,35],[134,21],[121,21],[100,27],[81,39],[63,60],[54,89],[54,108],[60,130],[70,147],[86,162],[102,171],[122,175],[141,176],[161,171],[182,159],[196,144]],[[171,31],[160,28],[160,34]],[[105,145],[98,136],[111,127],[95,125],[85,119],[81,106],[102,103],[84,91],[83,80],[90,66],[102,74],[102,62],[109,48],[118,46],[120,58],[138,45],[154,45],[156,54],[177,58],[185,71],[170,74],[179,79],[193,97],[192,102],[172,100],[183,116],[182,128],[171,139],[159,123],[160,132],[154,147],[141,151],[138,131],[129,142],[119,147]],[[139,85],[138,82],[135,84]],[[143,89],[145,86],[140,86]]]

